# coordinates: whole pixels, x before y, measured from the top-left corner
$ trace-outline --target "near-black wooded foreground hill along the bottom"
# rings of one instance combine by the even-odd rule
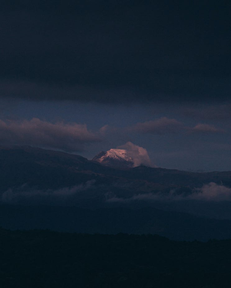
[[[231,240],[0,229],[2,288],[230,288]]]

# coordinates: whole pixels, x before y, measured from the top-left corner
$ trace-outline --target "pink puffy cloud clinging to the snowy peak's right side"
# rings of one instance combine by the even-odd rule
[[[128,156],[132,157],[134,161],[134,167],[140,166],[141,164],[145,166],[153,166],[145,148],[135,145],[132,142],[127,142],[117,148],[127,150]]]

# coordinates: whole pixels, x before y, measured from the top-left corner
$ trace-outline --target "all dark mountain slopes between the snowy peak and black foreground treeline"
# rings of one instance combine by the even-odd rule
[[[178,240],[231,237],[230,221],[222,220],[231,219],[230,171],[115,169],[29,146],[1,147],[0,171],[5,228],[157,233]]]

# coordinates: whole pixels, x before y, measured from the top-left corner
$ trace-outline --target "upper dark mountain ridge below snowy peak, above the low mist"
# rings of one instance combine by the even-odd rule
[[[124,197],[157,191],[166,193],[170,188],[181,188],[178,194],[189,193],[190,189],[210,182],[231,187],[231,171],[196,173],[146,166],[120,170],[78,155],[30,146],[1,147],[0,169],[1,191],[24,184],[38,189],[57,189],[89,180],[94,180],[103,193],[113,184],[116,190],[125,189]]]

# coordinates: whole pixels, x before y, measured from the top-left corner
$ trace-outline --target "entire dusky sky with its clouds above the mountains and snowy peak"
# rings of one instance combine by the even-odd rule
[[[7,1],[0,144],[231,170],[229,1]]]

